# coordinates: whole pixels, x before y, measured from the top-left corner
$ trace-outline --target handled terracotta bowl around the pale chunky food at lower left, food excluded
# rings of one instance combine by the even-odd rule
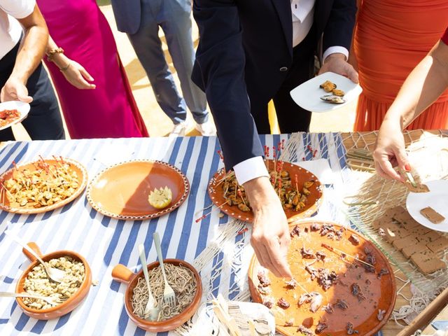
[[[52,307],[49,309],[33,309],[27,307],[25,303],[23,303],[21,297],[17,297],[15,299],[17,300],[17,303],[19,304],[20,308],[22,308],[22,310],[25,312],[25,314],[27,314],[29,317],[37,318],[38,320],[50,320],[51,318],[58,318],[65,314],[68,314],[70,311],[78,307],[78,304],[80,304],[80,302],[84,300],[84,298],[87,296],[87,293],[89,293],[90,286],[92,286],[92,272],[90,272],[90,267],[89,264],[87,263],[87,260],[85,260],[81,255],[73,251],[56,251],[42,255],[41,250],[35,243],[28,243],[28,246],[32,248],[33,251],[36,252],[42,258],[43,261],[49,261],[51,259],[67,256],[76,259],[80,262],[83,262],[85,269],[84,281],[83,283],[81,283],[81,286],[80,288],[78,288],[78,291],[74,293],[69,298],[69,300],[66,300],[66,302],[58,304],[56,307]],[[18,284],[17,286],[15,286],[15,293],[25,292],[25,290],[23,289],[23,285],[25,284],[25,279],[27,279],[28,273],[31,272],[31,269],[40,264],[40,262],[36,260],[34,255],[25,250],[25,248],[22,250],[22,252],[31,261],[31,265],[29,265],[28,268],[25,270],[25,272],[23,272],[22,276],[20,276]]]

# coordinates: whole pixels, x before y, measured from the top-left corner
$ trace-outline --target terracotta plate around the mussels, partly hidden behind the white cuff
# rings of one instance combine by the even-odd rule
[[[272,170],[274,167],[273,160],[267,160],[269,162],[269,170]],[[295,211],[293,209],[286,209],[285,214],[288,218],[289,222],[297,221],[300,218],[307,218],[314,214],[318,207],[322,202],[322,186],[321,182],[318,181],[317,177],[311,172],[307,171],[307,169],[303,169],[297,165],[293,165],[289,162],[283,162],[283,171],[289,173],[290,176],[295,176],[297,174],[297,186],[302,189],[303,183],[309,180],[314,180],[313,186],[309,188],[311,194],[307,197],[307,203],[304,208],[299,211]],[[216,207],[221,207],[221,211],[224,211],[225,214],[233,218],[237,218],[241,221],[253,222],[253,213],[252,211],[241,211],[237,206],[229,204],[225,204],[227,200],[224,198],[224,190],[223,190],[223,178],[225,176],[225,169],[221,169],[216,174],[214,174],[213,178],[209,183],[209,196],[211,201],[214,202]],[[295,179],[295,178],[293,178]],[[224,205],[223,205],[224,204]]]

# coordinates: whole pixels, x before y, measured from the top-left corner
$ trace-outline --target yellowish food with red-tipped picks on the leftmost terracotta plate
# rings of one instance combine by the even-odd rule
[[[12,208],[50,206],[73,195],[80,187],[78,174],[62,158],[48,163],[41,159],[34,169],[15,167],[9,179],[0,181],[0,200]]]

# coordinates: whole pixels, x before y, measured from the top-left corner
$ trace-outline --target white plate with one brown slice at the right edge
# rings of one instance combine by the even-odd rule
[[[429,188],[428,193],[407,195],[407,211],[426,228],[448,232],[448,181],[429,181],[425,184]]]

